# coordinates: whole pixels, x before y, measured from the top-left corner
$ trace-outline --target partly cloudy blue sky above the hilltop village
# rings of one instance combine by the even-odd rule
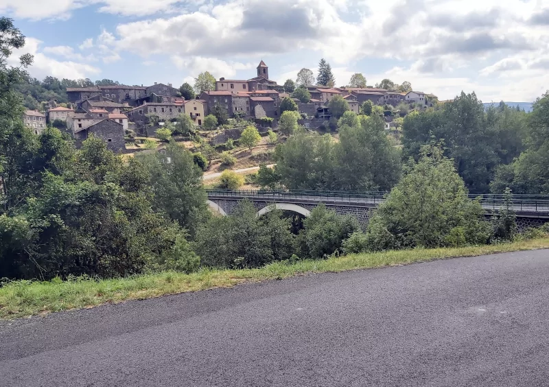
[[[331,65],[450,99],[533,102],[549,89],[549,0],[0,0],[27,36],[30,73],[123,84],[249,79],[283,84]]]

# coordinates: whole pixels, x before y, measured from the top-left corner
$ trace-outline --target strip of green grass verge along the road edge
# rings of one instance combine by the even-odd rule
[[[0,319],[20,318],[69,309],[82,309],[105,303],[154,298],[166,294],[194,292],[211,288],[229,288],[242,282],[284,279],[306,273],[342,272],[381,268],[451,257],[473,257],[493,253],[549,248],[549,238],[509,244],[395,250],[304,260],[296,263],[271,263],[264,268],[244,270],[200,270],[193,274],[160,272],[123,279],[101,281],[17,281],[0,288]]]

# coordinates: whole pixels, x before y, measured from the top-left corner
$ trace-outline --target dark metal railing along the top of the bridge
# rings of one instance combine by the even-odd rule
[[[345,203],[371,203],[378,204],[382,202],[388,192],[385,191],[308,191],[308,190],[293,190],[293,191],[268,191],[268,190],[253,190],[253,189],[209,189],[207,190],[209,197],[218,198],[250,198],[280,201],[285,199],[291,200],[314,200],[317,202],[345,202]],[[498,210],[505,206],[503,195],[470,194],[471,199],[480,199],[480,204],[484,209]],[[548,195],[513,195],[512,205],[515,211],[549,211],[549,196]]]

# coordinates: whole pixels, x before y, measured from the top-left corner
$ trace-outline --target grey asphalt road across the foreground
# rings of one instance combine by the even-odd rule
[[[0,323],[0,386],[548,386],[549,250]]]

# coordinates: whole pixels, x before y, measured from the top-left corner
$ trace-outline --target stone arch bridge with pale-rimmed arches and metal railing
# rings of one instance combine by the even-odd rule
[[[257,215],[277,208],[305,217],[322,203],[338,214],[355,215],[365,226],[371,211],[383,202],[386,192],[208,190],[207,194],[209,207],[221,215],[230,214],[241,200],[250,200],[257,208]],[[476,197],[471,195],[471,198]],[[501,195],[483,195],[480,203],[486,216],[491,217],[498,214],[504,200]],[[549,222],[549,196],[513,196],[513,209],[517,213],[519,228]]]

